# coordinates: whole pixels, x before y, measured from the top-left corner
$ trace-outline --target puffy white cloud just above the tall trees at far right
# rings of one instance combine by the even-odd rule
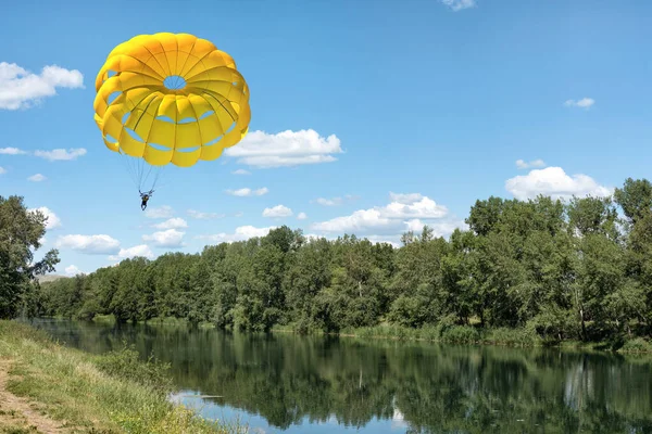
[[[568,176],[561,167],[535,169],[527,175],[507,179],[505,189],[519,200],[532,199],[538,194],[550,195],[554,199],[569,199],[572,195],[587,194],[607,196],[612,194],[613,190],[600,186],[587,175]]]

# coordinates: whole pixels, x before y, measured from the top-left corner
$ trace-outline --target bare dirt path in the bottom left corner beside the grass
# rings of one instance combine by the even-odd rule
[[[7,391],[11,360],[0,359],[0,433],[65,434],[61,422],[41,414],[34,404]],[[22,431],[17,429],[22,429]],[[12,430],[13,429],[13,430]]]

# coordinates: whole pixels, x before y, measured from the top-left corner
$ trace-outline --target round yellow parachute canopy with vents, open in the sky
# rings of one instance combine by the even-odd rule
[[[170,163],[218,158],[242,140],[251,119],[249,88],[233,58],[188,34],[139,35],[118,44],[96,91],[104,143],[126,155],[139,189],[148,165],[149,177]]]

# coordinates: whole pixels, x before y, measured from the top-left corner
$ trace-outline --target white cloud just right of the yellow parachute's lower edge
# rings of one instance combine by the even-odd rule
[[[342,152],[337,136],[323,138],[312,129],[276,135],[253,131],[237,146],[224,151],[226,155],[236,157],[238,163],[265,168],[330,163],[337,161],[331,154]]]

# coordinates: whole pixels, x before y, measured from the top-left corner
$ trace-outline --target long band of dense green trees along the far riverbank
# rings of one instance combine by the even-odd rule
[[[9,203],[2,201],[0,208]],[[263,332],[443,324],[529,330],[552,341],[652,334],[649,180],[628,178],[610,197],[491,196],[477,200],[465,221],[468,230],[448,240],[427,226],[406,232],[398,248],[354,234],[309,240],[284,226],[201,253],[136,257],[41,284],[33,279],[20,297],[13,291],[8,302],[12,291],[0,293],[0,306],[13,303],[13,315],[28,317],[174,317]]]

